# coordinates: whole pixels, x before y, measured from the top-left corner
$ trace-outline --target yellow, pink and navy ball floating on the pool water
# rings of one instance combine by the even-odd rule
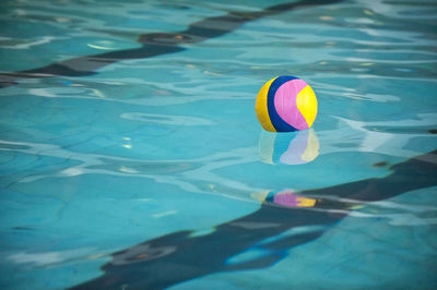
[[[290,75],[277,76],[261,87],[255,111],[267,131],[305,130],[316,120],[317,98],[303,80]]]

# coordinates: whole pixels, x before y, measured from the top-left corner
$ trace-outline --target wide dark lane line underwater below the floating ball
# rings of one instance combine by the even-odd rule
[[[271,266],[291,247],[323,234],[359,204],[436,185],[436,154],[434,150],[397,164],[385,178],[303,191],[302,196],[286,191],[269,194],[257,212],[218,225],[211,233],[174,232],[114,253],[113,261],[102,267],[103,276],[72,289],[163,289],[213,273]],[[312,195],[346,197],[349,202],[304,197]],[[312,230],[267,240],[299,227]],[[264,254],[229,263],[255,246]]]

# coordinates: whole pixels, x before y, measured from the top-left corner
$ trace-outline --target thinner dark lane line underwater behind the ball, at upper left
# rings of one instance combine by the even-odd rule
[[[43,68],[0,73],[0,88],[17,84],[21,78],[39,78],[56,75],[86,76],[96,74],[96,70],[108,64],[130,59],[145,59],[161,55],[174,53],[185,50],[179,45],[196,44],[210,38],[228,34],[246,22],[263,16],[279,14],[285,11],[310,8],[322,4],[332,4],[342,0],[300,0],[293,3],[283,3],[269,7],[255,12],[229,12],[223,16],[214,16],[194,22],[187,29],[176,33],[150,33],[138,37],[142,44],[140,48],[122,49],[94,56],[72,58],[55,62]]]

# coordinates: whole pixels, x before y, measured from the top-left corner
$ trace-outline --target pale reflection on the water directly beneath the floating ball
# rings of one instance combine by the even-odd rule
[[[312,129],[288,134],[262,131],[259,155],[265,164],[303,165],[317,158],[319,146],[319,140]]]

